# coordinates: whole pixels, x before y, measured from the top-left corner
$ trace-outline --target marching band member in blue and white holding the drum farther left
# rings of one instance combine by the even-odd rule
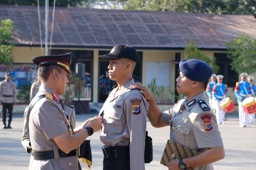
[[[218,75],[217,78],[217,84],[213,86],[212,89],[212,96],[213,99],[216,102],[216,119],[218,124],[224,124],[224,117],[225,117],[225,111],[222,107],[220,107],[220,101],[225,98],[225,96],[228,94],[228,86],[226,84],[223,84],[223,78],[224,76]]]

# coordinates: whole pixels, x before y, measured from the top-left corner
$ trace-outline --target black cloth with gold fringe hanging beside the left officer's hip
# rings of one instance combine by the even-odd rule
[[[81,160],[83,165],[88,165],[90,168],[92,166],[92,151],[90,140],[85,140],[79,148],[78,158]]]

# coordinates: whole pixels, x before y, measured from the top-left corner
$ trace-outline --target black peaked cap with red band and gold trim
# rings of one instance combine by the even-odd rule
[[[71,72],[69,71],[69,67],[72,61],[73,54],[71,52],[61,55],[55,55],[55,56],[37,56],[33,57],[32,61],[37,66],[44,66],[49,64],[56,64],[60,67],[63,67],[68,71],[67,77],[71,77]]]

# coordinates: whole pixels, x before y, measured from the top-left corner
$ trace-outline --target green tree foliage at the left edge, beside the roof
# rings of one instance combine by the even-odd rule
[[[15,45],[10,42],[11,30],[14,28],[13,22],[10,19],[2,20],[0,22],[0,63],[10,66],[13,63],[13,56],[11,51]]]

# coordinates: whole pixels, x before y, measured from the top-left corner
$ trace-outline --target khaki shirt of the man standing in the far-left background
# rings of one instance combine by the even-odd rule
[[[3,95],[12,97],[3,97]],[[0,82],[0,101],[3,103],[16,102],[16,84],[13,81],[3,80]]]

